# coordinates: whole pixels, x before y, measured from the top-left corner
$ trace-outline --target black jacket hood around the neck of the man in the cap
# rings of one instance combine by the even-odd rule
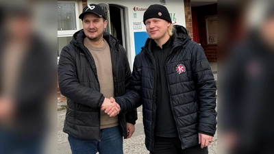
[[[77,46],[84,45],[84,38],[86,38],[86,35],[84,33],[84,29],[81,29],[73,34],[73,40],[71,40],[71,44],[75,44]],[[114,49],[119,48],[120,41],[114,38],[114,36],[112,36],[108,32],[103,31],[103,39],[108,42],[110,47]]]

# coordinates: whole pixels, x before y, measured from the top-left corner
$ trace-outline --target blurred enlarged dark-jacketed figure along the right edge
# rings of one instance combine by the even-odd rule
[[[248,12],[260,15],[245,17],[245,39],[221,68],[220,141],[229,153],[274,153],[274,3],[259,3],[265,8]]]

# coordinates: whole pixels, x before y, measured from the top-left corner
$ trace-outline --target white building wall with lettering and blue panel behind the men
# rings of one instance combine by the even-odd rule
[[[87,3],[102,3],[100,0],[88,0]],[[121,5],[125,7],[125,22],[127,23],[127,51],[129,64],[132,68],[134,57],[141,50],[141,47],[145,44],[147,40],[147,32],[145,25],[142,22],[142,17],[145,10],[151,4],[160,4],[160,1],[147,1],[147,0],[128,0],[128,1],[119,1],[119,0],[107,0],[103,3]],[[171,19],[175,25],[186,26],[185,16],[184,16],[184,1],[182,0],[173,0],[166,1],[164,5],[169,10],[171,14]],[[134,10],[135,8],[135,10]],[[137,26],[134,28],[134,24]]]

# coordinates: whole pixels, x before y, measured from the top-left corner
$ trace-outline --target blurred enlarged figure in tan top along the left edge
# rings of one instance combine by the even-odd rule
[[[1,11],[0,153],[42,153],[55,86],[51,51],[34,31],[27,4],[5,3]]]

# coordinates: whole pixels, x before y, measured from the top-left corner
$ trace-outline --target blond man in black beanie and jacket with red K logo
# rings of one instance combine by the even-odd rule
[[[208,153],[216,84],[203,48],[185,27],[171,24],[164,5],[150,5],[143,22],[149,38],[134,60],[132,90],[115,98],[121,113],[142,105],[145,145],[153,154]],[[115,115],[112,107],[102,110]]]

